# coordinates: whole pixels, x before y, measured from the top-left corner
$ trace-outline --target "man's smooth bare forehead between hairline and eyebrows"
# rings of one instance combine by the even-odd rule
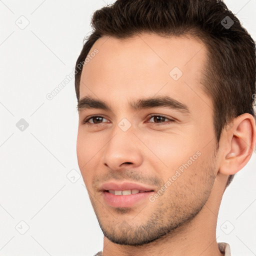
[[[180,102],[202,97],[209,100],[200,83],[206,47],[194,38],[147,33],[128,39],[103,36],[93,44],[87,59],[81,73],[80,98],[90,95],[116,106],[127,98],[156,94]]]

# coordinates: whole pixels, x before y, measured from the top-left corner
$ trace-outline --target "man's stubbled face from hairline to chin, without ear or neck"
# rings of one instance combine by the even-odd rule
[[[101,37],[88,56],[76,150],[91,204],[112,242],[154,241],[197,215],[217,174],[206,48],[145,33]]]

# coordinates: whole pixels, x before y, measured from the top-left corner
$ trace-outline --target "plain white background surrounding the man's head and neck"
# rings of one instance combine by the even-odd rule
[[[74,78],[51,100],[46,94],[73,71],[93,11],[112,2],[0,1],[1,256],[92,256],[102,249],[79,177]],[[255,40],[256,0],[225,3]],[[15,22],[29,24],[20,29]],[[23,131],[16,127],[21,118]],[[230,244],[232,256],[256,255],[255,166],[254,152],[221,202],[216,237]],[[66,177],[72,169],[75,183]],[[222,224],[234,229],[225,234]]]

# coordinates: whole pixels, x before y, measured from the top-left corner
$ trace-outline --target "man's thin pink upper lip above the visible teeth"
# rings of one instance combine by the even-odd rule
[[[152,187],[146,186],[146,185],[141,185],[133,182],[106,182],[103,183],[101,186],[101,190],[131,190],[131,189],[138,189],[142,191],[154,191]]]

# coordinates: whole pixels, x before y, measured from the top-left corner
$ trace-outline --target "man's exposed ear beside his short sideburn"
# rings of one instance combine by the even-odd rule
[[[231,175],[238,172],[250,159],[256,143],[255,119],[243,113],[233,119],[231,128],[224,131],[219,172]]]

